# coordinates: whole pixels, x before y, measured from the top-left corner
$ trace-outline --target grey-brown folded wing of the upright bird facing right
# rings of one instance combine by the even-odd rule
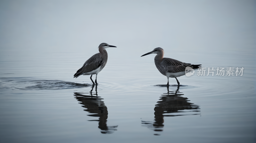
[[[83,73],[93,71],[99,68],[101,64],[102,64],[102,58],[100,56],[100,53],[97,53],[93,55],[91,58],[89,58],[87,61],[85,61],[83,67],[77,70],[74,77],[78,77]]]

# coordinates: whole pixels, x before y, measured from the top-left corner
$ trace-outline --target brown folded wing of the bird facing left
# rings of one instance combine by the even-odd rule
[[[191,67],[191,65],[174,60],[171,58],[163,58],[162,60],[162,66],[164,67],[165,70],[167,70],[170,73],[177,73],[177,72],[182,72],[185,71],[186,67]]]

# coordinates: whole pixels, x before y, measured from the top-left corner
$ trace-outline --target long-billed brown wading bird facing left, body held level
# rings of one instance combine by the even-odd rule
[[[191,65],[189,63],[181,62],[171,58],[164,58],[164,49],[160,47],[155,48],[153,51],[148,52],[147,54],[144,54],[142,56],[146,56],[148,54],[156,54],[155,56],[156,68],[159,70],[159,72],[162,75],[165,75],[167,77],[168,79],[167,85],[169,85],[169,77],[175,78],[178,85],[180,85],[180,82],[178,81],[177,77],[180,77],[186,74],[185,73],[186,67],[190,67],[193,69],[201,68],[199,67],[201,65]]]

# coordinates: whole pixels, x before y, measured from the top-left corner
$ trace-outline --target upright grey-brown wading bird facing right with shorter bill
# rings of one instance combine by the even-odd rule
[[[107,43],[101,43],[99,48],[99,52],[97,54],[94,54],[91,58],[89,58],[87,61],[85,61],[82,68],[78,69],[77,72],[74,75],[74,78],[77,78],[80,75],[91,75],[90,79],[93,84],[97,83],[97,75],[99,72],[106,66],[106,63],[108,61],[108,53],[106,51],[106,48],[108,47],[116,47],[112,45],[108,45]],[[92,80],[92,75],[96,74],[95,83]]]

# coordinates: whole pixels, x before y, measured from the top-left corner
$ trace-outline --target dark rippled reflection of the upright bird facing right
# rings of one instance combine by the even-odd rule
[[[93,88],[95,86],[95,93],[93,92]],[[83,95],[88,93],[81,93],[81,92],[74,92],[74,96],[77,99],[77,101],[80,101],[85,109],[84,111],[87,111],[89,113],[95,113],[90,114],[88,116],[92,117],[99,117],[98,120],[88,120],[88,121],[98,121],[99,122],[99,128],[101,129],[101,133],[110,134],[116,131],[117,126],[107,126],[107,119],[108,119],[108,108],[104,104],[104,101],[102,101],[103,98],[98,97],[97,92],[97,84],[92,85],[92,90],[89,92],[90,95]]]

